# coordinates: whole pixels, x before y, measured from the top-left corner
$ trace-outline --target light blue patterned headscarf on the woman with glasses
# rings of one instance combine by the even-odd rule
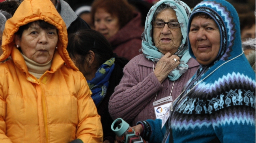
[[[146,18],[145,30],[142,33],[142,52],[144,56],[148,58],[148,60],[152,60],[153,62],[158,62],[160,58],[164,56],[164,54],[161,53],[157,49],[157,47],[155,47],[155,44],[152,41],[151,25],[151,21],[153,20],[155,10],[161,4],[169,5],[170,7],[172,7],[172,9],[174,9],[174,11],[176,11],[176,16],[178,18],[178,22],[180,24],[181,33],[183,37],[181,45],[179,46],[178,51],[175,53],[175,55],[181,57],[180,64],[178,65],[178,67],[176,67],[168,74],[169,80],[174,81],[178,80],[178,78],[189,68],[189,65],[186,64],[191,58],[187,44],[187,25],[189,23],[191,9],[189,8],[189,6],[187,6],[187,4],[179,0],[160,0],[151,7]]]

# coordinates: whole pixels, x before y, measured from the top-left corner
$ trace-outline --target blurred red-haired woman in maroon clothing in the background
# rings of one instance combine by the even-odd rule
[[[91,14],[95,30],[107,38],[113,52],[128,60],[140,54],[141,15],[127,0],[95,0]]]

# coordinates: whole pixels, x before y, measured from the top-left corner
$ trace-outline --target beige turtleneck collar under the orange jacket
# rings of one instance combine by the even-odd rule
[[[24,54],[22,54],[22,56],[28,67],[28,72],[33,76],[35,76],[37,79],[39,79],[47,70],[50,70],[52,60],[50,60],[47,63],[40,64],[40,63],[34,62],[33,60],[30,60]]]

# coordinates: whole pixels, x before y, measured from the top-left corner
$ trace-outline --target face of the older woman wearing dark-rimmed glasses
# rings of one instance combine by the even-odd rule
[[[164,9],[157,14],[155,21],[162,22],[178,22],[176,12],[173,9]],[[181,28],[169,28],[165,24],[162,28],[153,27],[153,41],[155,47],[166,54],[170,52],[174,54],[179,49],[182,40]]]

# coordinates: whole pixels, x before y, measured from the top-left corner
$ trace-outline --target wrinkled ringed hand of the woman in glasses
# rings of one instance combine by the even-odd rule
[[[173,59],[176,59],[177,62]],[[168,74],[179,65],[179,57],[177,55],[171,55],[167,52],[156,64],[154,74],[157,80],[162,83],[168,76]]]

